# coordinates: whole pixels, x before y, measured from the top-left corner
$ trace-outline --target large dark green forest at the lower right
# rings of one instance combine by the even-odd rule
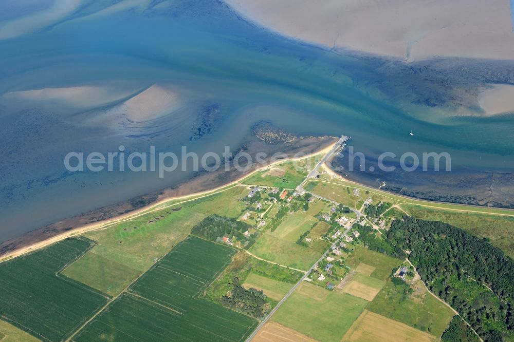
[[[514,338],[514,262],[487,241],[450,224],[409,216],[387,238],[416,265],[429,289],[488,341]]]

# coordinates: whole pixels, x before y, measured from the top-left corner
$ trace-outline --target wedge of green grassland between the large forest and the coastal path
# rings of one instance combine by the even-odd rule
[[[494,246],[514,259],[514,217],[463,213],[412,204],[401,204],[401,208],[415,218],[446,222],[475,236],[488,238]]]

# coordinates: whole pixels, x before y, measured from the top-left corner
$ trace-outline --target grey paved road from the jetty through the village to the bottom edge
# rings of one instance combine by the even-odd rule
[[[318,168],[323,164],[325,163],[328,158],[330,158],[334,152],[339,148],[341,147],[342,143],[345,142],[346,140],[350,139],[350,137],[346,137],[346,136],[342,136],[341,139],[339,139],[335,144],[334,146],[331,148],[331,150],[328,151],[328,153],[319,161],[318,164],[316,164],[316,166],[314,167],[314,169],[307,175],[307,177],[305,178],[305,180],[298,186],[298,189],[299,190],[303,190],[305,191],[305,189],[303,188],[303,184],[305,184],[305,182],[312,178],[312,177],[315,177],[317,174],[318,174]],[[315,195],[315,194],[312,194],[310,192],[308,192],[309,194],[315,196],[315,197],[318,197],[320,199],[323,199],[323,200],[327,200],[329,202],[332,202],[336,205],[339,205],[339,203],[337,202],[334,202],[332,200],[329,200],[329,199],[326,199],[326,198],[323,198],[323,197],[320,197],[318,195]],[[360,213],[354,209],[352,209],[356,214],[357,214],[357,220],[360,218]],[[307,276],[310,274],[310,272],[312,272],[315,268],[316,268],[316,265],[318,263],[320,263],[325,257],[326,255],[332,250],[332,248],[338,244],[341,239],[343,239],[347,234],[348,232],[350,232],[350,230],[352,229],[352,227],[348,228],[344,233],[343,235],[341,235],[341,237],[336,240],[336,242],[334,242],[329,249],[326,250],[325,253],[323,253],[323,255],[318,259],[318,261],[316,261],[316,263],[305,273],[305,275],[303,275],[303,277],[295,284],[295,286],[293,286],[289,292],[286,293],[286,295],[284,296],[284,298],[282,298],[281,301],[279,301],[279,303],[277,304],[276,307],[273,308],[273,310],[271,310],[269,312],[269,314],[266,316],[266,318],[264,318],[261,322],[261,324],[255,328],[255,330],[250,334],[250,336],[248,336],[248,338],[246,339],[246,342],[249,342],[253,337],[255,337],[255,335],[259,332],[259,330],[266,324],[266,322],[271,318],[271,316],[280,308],[280,306],[282,305],[282,303],[284,301],[286,301],[286,299],[291,295],[291,293],[293,293],[299,286],[300,284],[302,283],[302,281],[305,280],[305,278],[307,278]]]

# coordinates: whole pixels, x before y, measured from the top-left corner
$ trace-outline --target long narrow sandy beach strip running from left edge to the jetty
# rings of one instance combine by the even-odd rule
[[[252,169],[251,172],[246,173],[246,174],[236,178],[235,180],[232,180],[232,181],[230,181],[228,183],[224,183],[224,184],[218,185],[218,186],[216,186],[214,188],[211,188],[211,189],[207,189],[207,190],[199,191],[199,192],[194,192],[194,193],[190,193],[190,194],[186,194],[186,195],[180,195],[180,196],[168,196],[166,198],[159,199],[159,200],[157,200],[155,202],[152,202],[150,204],[147,204],[145,206],[137,208],[137,209],[135,209],[133,211],[130,211],[130,212],[127,212],[127,213],[123,213],[121,215],[117,215],[117,216],[114,216],[112,218],[107,218],[107,219],[99,220],[97,222],[87,223],[87,224],[78,226],[76,228],[70,229],[70,230],[65,230],[64,232],[61,232],[61,233],[56,234],[54,236],[45,237],[45,238],[40,239],[40,240],[35,241],[35,242],[27,241],[26,243],[23,243],[23,241],[25,240],[24,237],[27,237],[28,235],[36,234],[38,232],[43,233],[44,230],[45,230],[45,227],[43,227],[41,229],[36,229],[34,231],[31,231],[31,232],[28,232],[28,233],[26,233],[26,234],[24,234],[24,235],[22,235],[20,237],[17,237],[15,239],[11,239],[11,240],[5,241],[4,243],[0,244],[0,246],[5,246],[5,245],[9,245],[9,244],[13,243],[12,241],[17,241],[17,245],[12,250],[7,250],[5,253],[0,252],[0,263],[4,262],[4,261],[7,261],[7,260],[10,260],[10,259],[13,259],[13,258],[16,258],[16,257],[19,257],[21,255],[33,252],[33,251],[36,251],[36,250],[39,250],[39,249],[44,248],[45,246],[47,246],[49,244],[59,242],[61,240],[64,240],[66,238],[69,238],[69,237],[72,237],[72,236],[75,236],[75,235],[80,235],[80,234],[83,234],[83,233],[86,233],[86,232],[95,231],[95,230],[99,230],[99,229],[106,229],[106,228],[108,228],[110,226],[113,226],[113,225],[115,225],[117,223],[121,223],[121,222],[124,222],[124,221],[127,221],[127,220],[131,220],[131,219],[134,219],[136,217],[139,217],[139,216],[151,213],[153,211],[162,210],[163,208],[167,208],[169,206],[177,205],[177,204],[180,204],[180,203],[184,203],[184,202],[187,202],[187,201],[192,201],[192,200],[195,200],[195,199],[198,199],[198,198],[207,197],[207,196],[211,196],[211,195],[214,195],[214,194],[226,191],[226,190],[228,190],[228,189],[230,189],[230,188],[232,188],[234,186],[240,185],[239,183],[243,179],[248,178],[252,174],[258,173],[261,170],[269,168],[270,166],[273,166],[275,164],[282,163],[284,161],[301,160],[301,159],[310,158],[310,157],[313,157],[313,156],[316,156],[316,155],[319,155],[319,154],[322,154],[322,153],[327,153],[332,148],[332,146],[334,145],[334,142],[337,140],[336,137],[329,137],[329,138],[332,138],[332,139],[330,139],[330,142],[327,145],[325,145],[323,148],[318,149],[318,150],[316,150],[316,151],[314,151],[312,153],[309,153],[307,155],[304,155],[304,156],[298,157],[298,158],[284,158],[284,159],[280,159],[280,160],[274,161],[272,163],[268,163],[268,164],[266,164],[264,166],[261,166],[259,168]],[[242,185],[242,186],[246,186],[246,185]],[[179,202],[176,202],[177,200]],[[180,200],[183,200],[183,201],[180,201]],[[172,202],[172,203],[167,204],[168,202]],[[27,239],[27,240],[29,240],[29,239]]]

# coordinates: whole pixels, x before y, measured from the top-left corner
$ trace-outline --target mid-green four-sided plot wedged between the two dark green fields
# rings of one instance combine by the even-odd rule
[[[109,296],[120,294],[141,273],[93,251],[84,254],[62,272],[63,275],[83,282]]]

